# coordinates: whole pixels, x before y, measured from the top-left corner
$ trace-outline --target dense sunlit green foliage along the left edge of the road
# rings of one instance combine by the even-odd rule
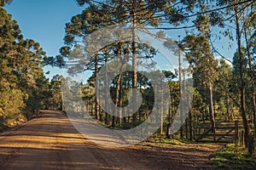
[[[0,1],[2,6],[9,2]],[[4,8],[0,8],[0,18],[0,125],[9,126],[44,107],[48,80],[40,44],[23,39],[17,22]]]

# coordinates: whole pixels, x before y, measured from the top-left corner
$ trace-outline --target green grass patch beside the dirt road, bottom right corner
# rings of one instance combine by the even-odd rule
[[[256,156],[250,156],[244,147],[236,147],[235,144],[227,144],[212,157],[211,161],[217,169],[254,170],[256,168]]]

